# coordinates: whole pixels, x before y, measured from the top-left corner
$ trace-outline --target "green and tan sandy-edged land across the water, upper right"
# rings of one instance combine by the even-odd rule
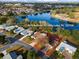
[[[59,18],[62,20],[67,19],[67,21],[79,23],[79,7],[74,8],[55,8],[52,9],[52,17]]]

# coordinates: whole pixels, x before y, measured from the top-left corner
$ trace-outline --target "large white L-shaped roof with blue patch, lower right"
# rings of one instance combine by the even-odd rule
[[[67,50],[70,54],[74,54],[77,48],[72,45],[69,45],[66,42],[61,42],[60,45],[56,48],[56,50],[60,52]]]

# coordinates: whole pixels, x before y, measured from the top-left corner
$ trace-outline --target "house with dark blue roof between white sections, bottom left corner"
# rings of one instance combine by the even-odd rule
[[[3,56],[2,59],[23,59],[22,55],[17,55],[15,52],[10,52]]]

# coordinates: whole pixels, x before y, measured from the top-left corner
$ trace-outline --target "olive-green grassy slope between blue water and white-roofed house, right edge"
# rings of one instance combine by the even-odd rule
[[[62,35],[63,37],[66,37],[66,39],[75,45],[79,45],[79,31],[77,30],[62,30],[60,29],[58,32],[56,32],[58,35]]]

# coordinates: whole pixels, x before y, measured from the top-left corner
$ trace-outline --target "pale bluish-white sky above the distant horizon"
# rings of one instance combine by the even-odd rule
[[[79,3],[79,0],[0,0],[0,2],[26,2],[26,3],[46,3],[46,2],[51,2],[51,3]]]

